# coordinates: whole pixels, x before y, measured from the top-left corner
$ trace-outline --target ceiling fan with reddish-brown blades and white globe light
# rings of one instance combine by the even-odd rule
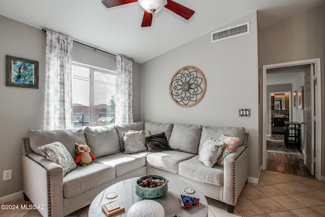
[[[102,3],[106,8],[112,8],[129,3],[139,2],[140,6],[145,9],[141,27],[151,26],[152,17],[154,13],[160,11],[163,7],[178,14],[184,19],[188,20],[195,13],[195,11],[186,8],[172,0],[103,0]]]

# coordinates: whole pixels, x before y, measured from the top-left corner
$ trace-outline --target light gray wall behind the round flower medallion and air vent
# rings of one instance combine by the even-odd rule
[[[249,175],[258,178],[261,161],[258,154],[256,12],[224,27],[247,21],[250,22],[250,34],[211,43],[211,33],[207,33],[142,64],[142,119],[245,127],[250,133]],[[176,105],[169,95],[172,76],[185,66],[199,68],[207,81],[202,101],[190,108]],[[251,109],[251,116],[239,117],[240,108]]]

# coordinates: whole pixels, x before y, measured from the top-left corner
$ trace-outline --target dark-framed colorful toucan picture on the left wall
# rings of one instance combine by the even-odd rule
[[[6,55],[6,85],[39,88],[39,62]]]

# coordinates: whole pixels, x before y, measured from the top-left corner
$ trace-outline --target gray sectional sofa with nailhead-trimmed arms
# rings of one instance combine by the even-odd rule
[[[170,150],[148,152],[145,148],[137,152],[139,147],[133,147],[132,140],[126,142],[124,132],[142,130],[151,135],[164,132]],[[202,147],[207,139],[218,139],[221,134],[238,137],[239,145],[224,159],[223,167],[217,164],[207,167],[199,161]],[[96,159],[88,166],[78,165],[63,176],[63,168],[47,160],[38,149],[57,141],[67,148],[73,159],[76,159],[74,144],[86,143]],[[248,179],[248,134],[244,128],[237,127],[156,122],[57,131],[31,130],[28,138],[23,139],[22,172],[25,199],[44,205],[39,210],[43,216],[70,214],[90,204],[110,185],[146,174],[186,180],[207,197],[228,204],[228,211],[233,212]]]

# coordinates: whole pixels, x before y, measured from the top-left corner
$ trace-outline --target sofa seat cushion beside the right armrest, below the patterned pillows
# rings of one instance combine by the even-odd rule
[[[205,183],[223,186],[223,168],[215,164],[212,168],[199,162],[199,156],[179,163],[178,174]]]

